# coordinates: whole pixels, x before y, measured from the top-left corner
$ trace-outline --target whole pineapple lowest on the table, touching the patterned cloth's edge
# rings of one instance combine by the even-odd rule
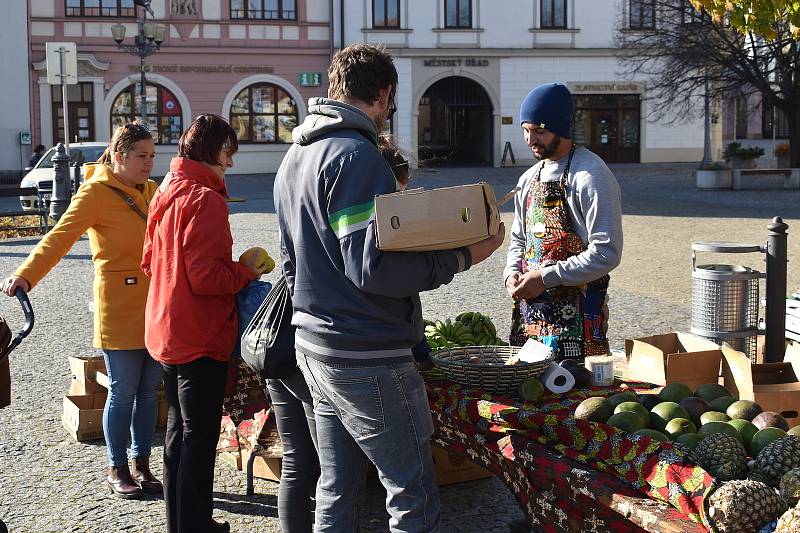
[[[708,517],[720,533],[758,531],[785,509],[786,503],[773,489],[750,479],[723,483],[708,498]]]

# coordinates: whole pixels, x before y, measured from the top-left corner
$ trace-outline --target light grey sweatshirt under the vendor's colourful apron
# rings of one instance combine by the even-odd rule
[[[514,224],[503,279],[521,272],[525,253],[525,197],[528,186],[543,165],[541,181],[558,181],[567,164],[564,156],[558,161],[544,160],[529,168],[519,179],[519,192],[514,197]],[[611,272],[622,258],[622,205],[614,174],[599,156],[578,147],[572,158],[567,180],[567,204],[570,219],[584,252],[541,269],[546,288],[580,286]]]

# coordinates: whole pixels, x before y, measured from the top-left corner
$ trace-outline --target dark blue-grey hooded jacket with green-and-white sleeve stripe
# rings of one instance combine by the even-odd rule
[[[296,348],[334,363],[410,361],[423,338],[419,292],[449,283],[470,254],[378,250],[375,196],[396,184],[375,122],[326,98],[308,112],[274,189]]]

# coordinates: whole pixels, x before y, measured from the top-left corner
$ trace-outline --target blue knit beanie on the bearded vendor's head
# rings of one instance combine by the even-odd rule
[[[567,86],[563,83],[546,83],[533,89],[522,101],[519,123],[535,124],[537,128],[571,139],[574,111],[575,104]]]

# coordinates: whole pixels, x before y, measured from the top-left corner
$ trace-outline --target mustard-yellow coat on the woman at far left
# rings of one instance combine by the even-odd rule
[[[14,272],[35,287],[89,233],[94,265],[94,346],[106,350],[144,348],[144,307],[148,282],[142,261],[145,221],[113,189],[133,199],[146,213],[156,191],[129,187],[104,164],[84,165],[84,183],[58,224]]]

